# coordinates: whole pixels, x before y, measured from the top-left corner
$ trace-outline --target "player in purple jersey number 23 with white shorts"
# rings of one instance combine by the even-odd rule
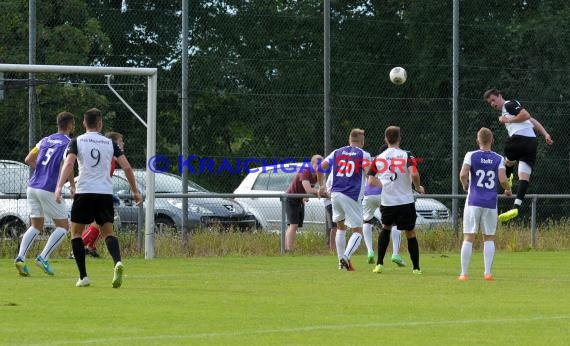
[[[467,281],[469,262],[473,253],[473,241],[479,228],[483,232],[484,279],[493,280],[491,267],[495,256],[495,232],[497,229],[497,188],[500,184],[505,195],[511,189],[505,173],[503,157],[491,150],[493,133],[488,128],[477,132],[479,150],[465,155],[459,179],[467,192],[463,210],[463,244],[461,245],[460,281]]]

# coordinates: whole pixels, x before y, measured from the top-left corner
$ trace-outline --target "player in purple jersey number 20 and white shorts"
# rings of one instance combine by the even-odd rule
[[[341,268],[353,271],[350,257],[362,241],[362,197],[366,167],[370,164],[370,154],[362,150],[364,130],[353,129],[349,145],[330,153],[322,162],[321,168],[332,174],[331,202],[333,221],[337,223],[335,244]],[[353,233],[346,243],[346,229]]]

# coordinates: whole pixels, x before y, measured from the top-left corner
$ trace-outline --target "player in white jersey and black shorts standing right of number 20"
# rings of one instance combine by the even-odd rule
[[[416,206],[412,183],[416,191],[425,193],[420,184],[420,175],[415,157],[408,151],[400,149],[402,140],[400,128],[389,126],[384,131],[384,140],[388,149],[380,153],[372,161],[368,172],[368,183],[382,187],[382,231],[378,236],[378,259],[374,273],[382,273],[384,256],[390,243],[393,225],[406,233],[408,251],[412,260],[414,274],[422,274],[420,269],[420,250],[416,238]]]

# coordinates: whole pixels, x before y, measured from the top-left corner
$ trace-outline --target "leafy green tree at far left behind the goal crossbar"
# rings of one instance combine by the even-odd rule
[[[0,45],[0,61],[12,64],[28,63],[28,9],[27,2],[6,0],[1,5],[3,20],[0,35],[8,44]],[[37,3],[37,64],[88,65],[95,62],[93,52],[109,53],[109,42],[97,20],[87,11],[85,1],[63,0]],[[0,123],[0,146],[8,149],[6,157],[22,161],[28,149],[27,74],[4,76],[5,98],[0,102],[0,113],[9,121]],[[85,76],[56,76],[38,74],[36,138],[55,130],[55,116],[63,111],[81,115],[91,107],[105,108],[106,100],[88,86]],[[80,118],[78,118],[79,120]],[[78,121],[78,130],[80,130]]]

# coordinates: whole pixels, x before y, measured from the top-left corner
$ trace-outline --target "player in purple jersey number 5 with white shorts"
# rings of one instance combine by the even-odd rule
[[[48,238],[43,251],[36,257],[35,262],[48,275],[53,275],[53,270],[48,262],[49,256],[61,244],[69,229],[67,208],[65,204],[58,204],[54,201],[53,192],[65,150],[70,141],[69,136],[75,129],[73,114],[69,112],[59,113],[57,115],[57,128],[57,133],[42,138],[24,160],[26,164],[34,168],[34,173],[28,181],[26,191],[31,225],[22,237],[18,256],[15,260],[16,269],[21,276],[30,275],[26,264],[26,255],[44,228],[45,216],[53,219],[55,229]],[[73,194],[75,190],[73,172],[69,175],[68,181]]]

